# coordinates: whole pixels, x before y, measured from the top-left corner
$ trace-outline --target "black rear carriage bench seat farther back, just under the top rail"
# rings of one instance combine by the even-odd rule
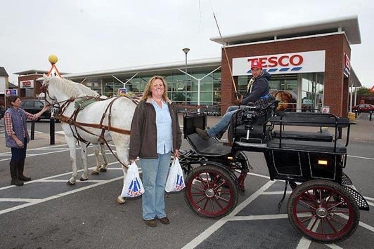
[[[272,137],[279,138],[281,134],[279,131],[274,131]],[[322,132],[301,132],[301,131],[282,131],[282,138],[293,139],[293,140],[313,140],[313,141],[324,141],[332,142],[333,134],[328,131]]]

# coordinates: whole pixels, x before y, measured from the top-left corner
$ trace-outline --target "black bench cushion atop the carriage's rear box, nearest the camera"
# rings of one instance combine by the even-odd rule
[[[283,133],[282,133],[283,138]],[[267,143],[268,148],[279,148],[279,139],[274,138]],[[321,141],[301,141],[282,139],[281,148],[296,151],[313,151],[334,153],[334,142]],[[347,148],[339,142],[336,142],[336,153],[346,154]]]

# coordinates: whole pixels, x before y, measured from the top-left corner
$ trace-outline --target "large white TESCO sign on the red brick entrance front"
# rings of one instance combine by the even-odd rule
[[[324,50],[233,58],[232,74],[234,76],[250,75],[250,65],[253,60],[260,61],[263,69],[272,74],[324,72],[324,58]]]

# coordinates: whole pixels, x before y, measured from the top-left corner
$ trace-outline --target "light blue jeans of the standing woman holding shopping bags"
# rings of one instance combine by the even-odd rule
[[[157,159],[140,158],[143,170],[144,194],[142,195],[143,219],[166,217],[165,185],[170,166],[171,152],[157,154]]]

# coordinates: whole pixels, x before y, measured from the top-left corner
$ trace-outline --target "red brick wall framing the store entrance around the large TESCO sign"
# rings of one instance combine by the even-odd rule
[[[330,106],[331,113],[338,116],[346,116],[345,110],[347,108],[343,112],[343,105],[346,105],[343,99],[347,98],[346,91],[343,91],[343,68],[344,51],[350,58],[350,48],[344,34],[226,47],[231,68],[232,58],[319,50],[324,50],[326,53],[323,103],[325,106]],[[223,48],[221,63],[221,112],[224,113],[235,99],[235,95],[233,94],[234,88]],[[234,79],[237,84],[237,77],[234,77]]]

